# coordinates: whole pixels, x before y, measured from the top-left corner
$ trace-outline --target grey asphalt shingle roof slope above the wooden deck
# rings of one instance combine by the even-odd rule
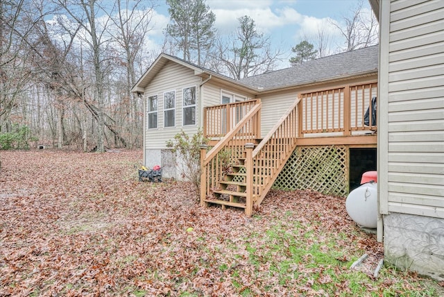
[[[375,45],[310,60],[286,69],[250,76],[239,80],[239,83],[259,90],[270,90],[376,71],[377,64],[378,46]]]

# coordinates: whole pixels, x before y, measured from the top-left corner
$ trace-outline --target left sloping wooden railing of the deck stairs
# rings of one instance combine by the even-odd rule
[[[219,182],[230,165],[244,157],[245,144],[260,138],[261,131],[260,99],[253,108],[215,145],[210,151],[200,150],[200,205],[206,205],[205,199],[210,197],[213,189],[219,189]]]

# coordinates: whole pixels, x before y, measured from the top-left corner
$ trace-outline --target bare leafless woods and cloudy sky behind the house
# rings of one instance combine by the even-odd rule
[[[292,46],[253,10],[237,10],[236,28],[222,30],[216,2],[1,1],[0,149],[141,148],[142,96],[130,90],[161,52],[239,79],[377,44],[366,1],[346,1],[336,19],[294,12],[311,22],[305,31],[295,24]]]

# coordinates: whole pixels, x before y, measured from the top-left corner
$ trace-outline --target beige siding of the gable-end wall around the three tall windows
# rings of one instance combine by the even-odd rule
[[[175,62],[167,62],[157,73],[145,89],[149,96],[156,94],[158,102],[158,123],[164,123],[164,92],[176,92],[176,128],[147,129],[145,135],[146,149],[167,148],[167,140],[173,139],[180,130],[185,133],[196,133],[197,126],[182,126],[182,92],[185,87],[196,86],[196,118],[200,117],[198,85],[201,78],[194,75],[194,70],[179,65]]]

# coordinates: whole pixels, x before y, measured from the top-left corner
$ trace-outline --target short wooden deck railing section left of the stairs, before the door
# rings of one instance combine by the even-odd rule
[[[222,137],[232,130],[236,124],[258,103],[260,99],[241,101],[206,107],[203,112],[203,135],[207,138]],[[258,123],[260,125],[260,117]],[[245,126],[243,132],[248,134],[255,125]]]

